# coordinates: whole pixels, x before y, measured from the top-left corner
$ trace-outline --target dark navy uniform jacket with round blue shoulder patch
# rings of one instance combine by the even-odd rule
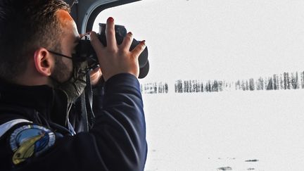
[[[81,115],[72,113],[75,106],[68,106],[63,91],[1,82],[0,170],[144,170],[146,125],[137,78],[115,75],[104,93],[97,89],[94,127],[79,132]]]

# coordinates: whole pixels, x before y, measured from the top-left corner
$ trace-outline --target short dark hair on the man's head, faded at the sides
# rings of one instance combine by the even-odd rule
[[[61,51],[56,11],[70,12],[60,0],[0,0],[0,77],[13,80],[26,70],[39,47]]]

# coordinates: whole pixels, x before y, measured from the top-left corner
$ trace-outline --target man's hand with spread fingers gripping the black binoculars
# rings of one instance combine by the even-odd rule
[[[107,81],[110,77],[120,73],[130,73],[139,76],[139,55],[146,48],[145,42],[139,43],[132,51],[129,48],[132,44],[132,33],[127,33],[122,44],[118,45],[115,39],[114,19],[108,18],[106,25],[107,46],[99,41],[96,32],[91,32],[91,45],[97,57],[103,79]]]

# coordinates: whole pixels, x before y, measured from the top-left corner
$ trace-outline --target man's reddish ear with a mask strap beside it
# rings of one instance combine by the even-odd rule
[[[53,58],[51,58],[51,54],[45,48],[39,48],[34,51],[34,64],[36,70],[44,75],[51,75],[51,68],[53,68]]]

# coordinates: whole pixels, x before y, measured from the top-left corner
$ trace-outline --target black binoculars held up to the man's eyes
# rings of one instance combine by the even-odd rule
[[[127,30],[123,25],[115,25],[115,37],[116,42],[118,44],[122,44],[123,39],[127,35]],[[107,46],[106,43],[106,24],[99,23],[99,33],[97,33],[97,37],[103,46]],[[133,39],[131,47],[129,51],[135,48],[139,44],[139,41]],[[88,61],[89,65],[99,65],[98,58],[96,53],[91,46],[91,42],[89,40],[89,35],[82,37],[79,44],[76,46],[76,54],[73,57],[76,61]],[[139,78],[144,78],[148,75],[149,63],[148,63],[148,48],[144,49],[143,52],[139,55]]]

